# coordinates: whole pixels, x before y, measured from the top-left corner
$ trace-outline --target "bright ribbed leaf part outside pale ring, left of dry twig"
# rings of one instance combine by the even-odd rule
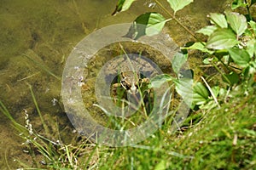
[[[209,93],[207,88],[201,83],[196,82],[195,86],[193,87],[194,95],[193,95],[193,102],[195,105],[203,105],[207,103],[207,99],[209,97]]]

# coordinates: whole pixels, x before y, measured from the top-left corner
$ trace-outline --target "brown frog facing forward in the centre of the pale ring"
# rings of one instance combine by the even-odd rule
[[[120,99],[129,100],[129,96],[139,102],[139,100],[147,98],[148,94],[152,92],[148,85],[150,84],[150,77],[154,75],[154,67],[149,65],[146,60],[132,55],[128,59],[116,59],[114,64],[110,63],[108,69],[106,72],[115,77],[109,78],[113,80],[110,88],[114,103]]]

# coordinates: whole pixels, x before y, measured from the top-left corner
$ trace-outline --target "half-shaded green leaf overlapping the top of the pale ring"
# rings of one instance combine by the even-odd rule
[[[162,31],[166,21],[168,20],[166,20],[165,17],[159,13],[141,14],[134,21],[125,37],[137,39],[144,35],[154,36]]]

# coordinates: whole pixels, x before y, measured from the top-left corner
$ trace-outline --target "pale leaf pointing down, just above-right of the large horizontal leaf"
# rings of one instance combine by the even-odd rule
[[[247,29],[246,17],[238,13],[227,13],[226,17],[233,31],[236,32],[237,36],[241,36],[241,34]]]

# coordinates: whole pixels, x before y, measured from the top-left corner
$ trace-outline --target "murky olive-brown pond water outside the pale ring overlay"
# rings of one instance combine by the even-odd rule
[[[2,0],[0,2],[0,100],[17,122],[25,123],[24,110],[31,116],[35,129],[43,132],[32,101],[29,85],[37,99],[42,115],[50,126],[72,128],[61,104],[61,76],[68,55],[86,35],[104,26],[127,23],[148,8],[148,1],[137,1],[131,10],[112,16],[113,0]],[[167,4],[166,4],[167,5]],[[229,3],[223,0],[195,0],[177,13],[177,18],[196,31],[208,24],[207,14],[223,12]],[[191,40],[175,22],[166,31],[178,45]],[[15,159],[32,165],[22,150],[22,140],[0,115],[0,167],[18,167]],[[63,130],[64,129],[64,130]],[[66,133],[66,135],[68,135]],[[68,139],[68,136],[66,137]],[[65,138],[63,140],[66,140]],[[68,141],[68,140],[66,140]]]

